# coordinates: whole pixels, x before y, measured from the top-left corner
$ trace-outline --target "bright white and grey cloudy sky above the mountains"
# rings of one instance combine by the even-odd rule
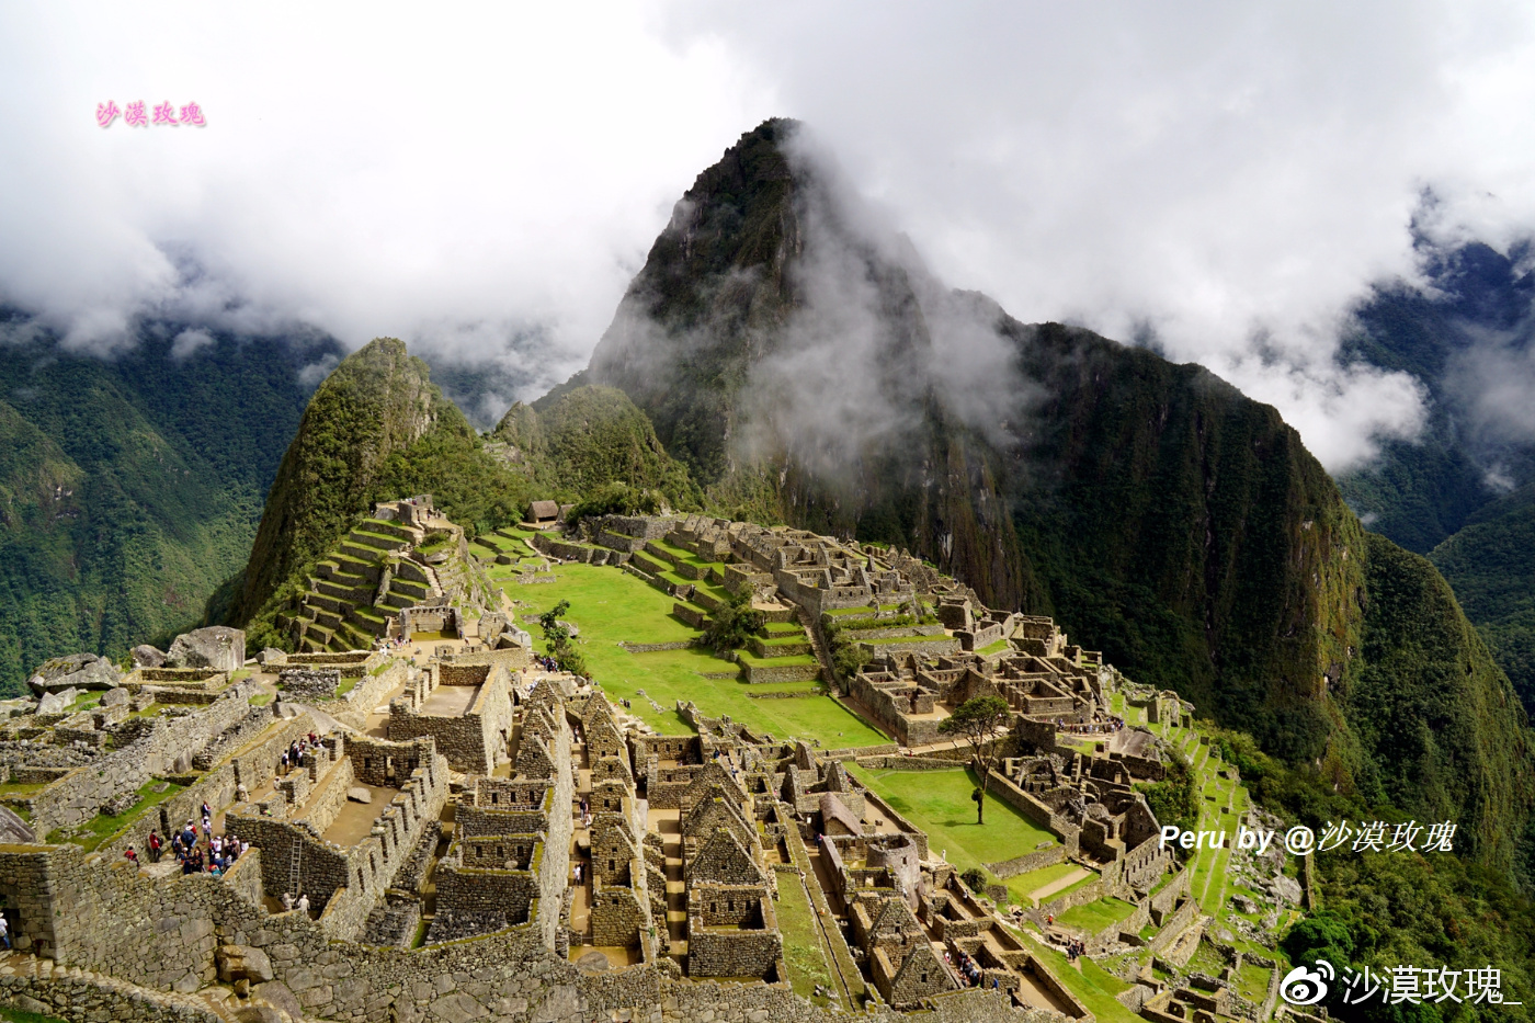
[[[12,8],[0,301],[101,355],[144,315],[394,335],[488,422],[585,364],[697,167],[789,115],[936,278],[1199,361],[1339,472],[1428,415],[1337,358],[1351,307],[1535,226],[1532,51],[1512,3]],[[207,126],[97,126],[132,100]],[[1458,379],[1529,433],[1524,349]]]

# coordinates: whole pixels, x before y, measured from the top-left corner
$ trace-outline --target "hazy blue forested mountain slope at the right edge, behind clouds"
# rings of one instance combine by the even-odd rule
[[[1417,376],[1428,425],[1339,481],[1372,530],[1449,579],[1526,708],[1535,707],[1535,273],[1529,244],[1420,243],[1426,287],[1378,289],[1345,358]]]

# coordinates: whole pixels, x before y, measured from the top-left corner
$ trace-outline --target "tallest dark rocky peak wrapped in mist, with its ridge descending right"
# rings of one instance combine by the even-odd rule
[[[1365,727],[1382,691],[1365,636],[1385,651],[1398,634],[1369,593],[1400,551],[1368,539],[1279,413],[941,287],[792,123],[698,177],[574,382],[623,389],[721,510],[909,547],[1340,788],[1414,805],[1426,779],[1417,805],[1455,805],[1509,854],[1521,743],[1457,733],[1412,760]],[[1475,636],[1444,644],[1472,670],[1414,676],[1398,717],[1426,722],[1412,700],[1443,696],[1484,708],[1500,743],[1523,736]],[[1481,794],[1438,785],[1423,765],[1443,757]]]

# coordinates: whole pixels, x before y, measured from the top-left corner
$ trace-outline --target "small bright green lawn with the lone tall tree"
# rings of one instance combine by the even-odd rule
[[[961,871],[1010,860],[1033,852],[1041,842],[1056,840],[1048,831],[995,797],[985,800],[985,823],[978,825],[975,803],[970,802],[970,793],[978,782],[970,768],[869,771],[849,763],[847,770],[926,831],[927,845],[944,852]]]

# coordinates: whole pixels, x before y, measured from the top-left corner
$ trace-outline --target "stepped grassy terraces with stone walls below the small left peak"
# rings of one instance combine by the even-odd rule
[[[304,653],[367,650],[404,608],[442,596],[437,573],[407,553],[424,530],[364,519],[315,567],[287,628]]]

